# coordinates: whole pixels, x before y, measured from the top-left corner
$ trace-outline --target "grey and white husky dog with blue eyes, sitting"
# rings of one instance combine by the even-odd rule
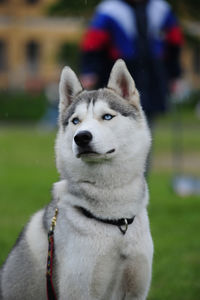
[[[1,299],[47,299],[47,232],[56,208],[57,299],[146,299],[153,243],[144,171],[151,137],[134,81],[118,60],[106,88],[86,91],[65,67],[59,92],[56,163],[62,180],[3,265]]]

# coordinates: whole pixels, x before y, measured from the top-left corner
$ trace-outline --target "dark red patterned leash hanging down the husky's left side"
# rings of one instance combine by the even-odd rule
[[[51,221],[51,227],[48,232],[48,256],[47,256],[47,272],[46,272],[46,288],[47,288],[47,299],[57,300],[55,289],[53,286],[53,256],[54,256],[54,229],[56,226],[56,220],[58,215],[58,209],[55,210],[55,215]]]

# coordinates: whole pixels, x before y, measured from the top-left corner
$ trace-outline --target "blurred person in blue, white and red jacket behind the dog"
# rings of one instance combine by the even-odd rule
[[[183,36],[165,0],[105,0],[96,8],[81,43],[84,88],[106,86],[116,59],[122,58],[140,92],[149,125],[167,108],[181,75]]]

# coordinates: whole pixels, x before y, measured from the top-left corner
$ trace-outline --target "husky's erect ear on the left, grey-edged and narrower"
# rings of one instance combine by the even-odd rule
[[[71,68],[62,70],[59,84],[60,109],[66,108],[73,101],[74,96],[83,90],[80,81]]]

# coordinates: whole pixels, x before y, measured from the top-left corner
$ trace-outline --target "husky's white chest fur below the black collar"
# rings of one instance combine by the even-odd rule
[[[60,189],[62,185],[64,181],[57,186]],[[133,292],[146,293],[153,254],[146,209],[123,235],[117,226],[82,215],[71,205],[80,204],[81,199],[65,193],[63,187],[61,190],[64,196],[59,197],[61,215],[55,231],[60,299],[121,300],[128,293],[131,297]]]

